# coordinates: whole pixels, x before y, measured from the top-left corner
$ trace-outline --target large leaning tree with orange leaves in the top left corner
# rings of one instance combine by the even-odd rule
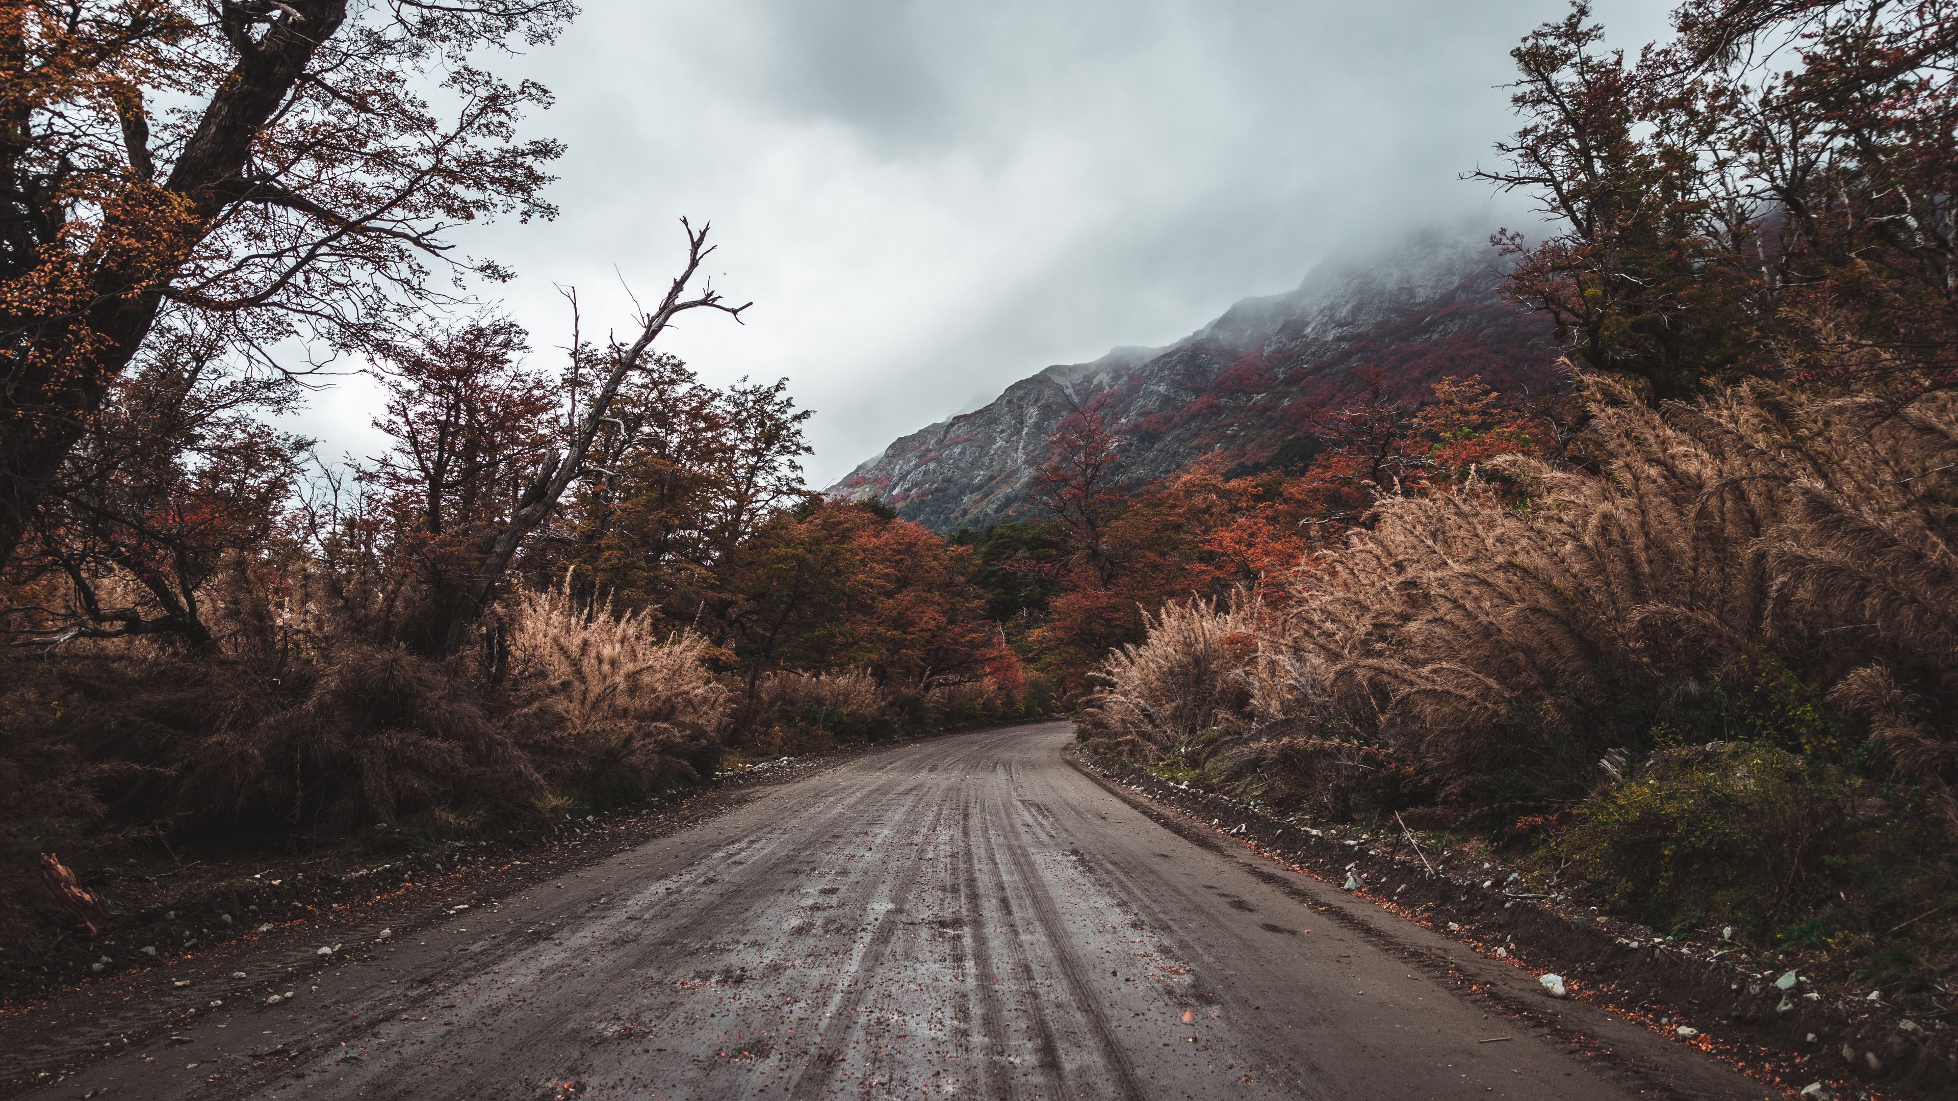
[[[572,10],[0,4],[0,564],[159,319],[366,347],[446,294],[437,264],[505,276],[443,233],[550,215],[560,147],[515,135],[548,92],[480,61]]]

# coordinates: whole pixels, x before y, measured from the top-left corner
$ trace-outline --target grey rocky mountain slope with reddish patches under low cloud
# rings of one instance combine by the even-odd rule
[[[1034,515],[1034,472],[1055,427],[1091,406],[1120,435],[1120,478],[1173,474],[1206,455],[1243,470],[1316,451],[1314,425],[1380,372],[1420,404],[1447,376],[1504,394],[1566,382],[1549,325],[1502,296],[1486,245],[1416,237],[1367,263],[1326,263],[1288,294],[1247,298],[1163,349],[1124,347],[1014,382],[993,404],[895,441],[828,492],[877,498],[936,531]]]

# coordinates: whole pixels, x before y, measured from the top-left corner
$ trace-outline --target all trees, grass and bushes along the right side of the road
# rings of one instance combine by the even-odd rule
[[[1239,529],[1210,525],[1183,598],[1130,599],[1075,666],[1083,737],[1958,1021],[1954,27],[1694,0],[1637,59],[1584,6],[1529,35],[1523,127],[1480,176],[1557,227],[1498,241],[1572,394],[1329,419],[1312,468],[1226,505],[1304,502],[1275,527],[1296,558],[1230,576]],[[1081,568],[1120,560],[1063,517]]]

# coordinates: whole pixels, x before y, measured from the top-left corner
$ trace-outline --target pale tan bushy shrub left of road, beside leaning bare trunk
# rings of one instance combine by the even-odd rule
[[[730,701],[705,639],[662,641],[648,613],[580,605],[570,576],[509,603],[511,672],[527,686],[531,748],[548,776],[621,801],[713,770]]]

